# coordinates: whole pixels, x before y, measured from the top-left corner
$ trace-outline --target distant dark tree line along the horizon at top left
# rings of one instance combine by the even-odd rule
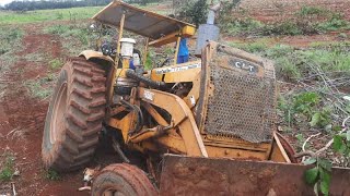
[[[48,10],[48,9],[67,9],[77,7],[103,7],[113,0],[42,0],[42,1],[12,1],[5,4],[3,10],[12,11],[31,11],[31,10]],[[160,0],[129,0],[129,3],[147,4],[150,2],[158,2]]]

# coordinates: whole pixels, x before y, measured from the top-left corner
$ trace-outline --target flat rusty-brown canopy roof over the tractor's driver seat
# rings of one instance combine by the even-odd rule
[[[126,14],[124,23],[125,29],[151,39],[159,39],[166,35],[179,32],[185,26],[195,28],[191,24],[142,10],[121,1],[113,1],[94,15],[93,20],[118,27],[122,13]]]

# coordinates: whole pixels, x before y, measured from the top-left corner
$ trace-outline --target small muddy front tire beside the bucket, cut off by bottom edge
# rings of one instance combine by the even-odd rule
[[[145,173],[139,168],[117,163],[104,168],[94,177],[91,194],[102,195],[128,195],[128,196],[153,196],[159,195]]]

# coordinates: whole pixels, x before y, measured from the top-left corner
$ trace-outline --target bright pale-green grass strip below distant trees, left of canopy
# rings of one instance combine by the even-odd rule
[[[91,19],[104,7],[84,7],[27,12],[0,11],[0,24],[23,24],[44,21],[68,21]]]

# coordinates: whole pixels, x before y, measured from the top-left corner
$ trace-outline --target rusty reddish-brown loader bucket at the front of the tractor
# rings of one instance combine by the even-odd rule
[[[161,195],[315,195],[312,166],[165,155]],[[350,169],[332,168],[330,195],[350,195]]]

